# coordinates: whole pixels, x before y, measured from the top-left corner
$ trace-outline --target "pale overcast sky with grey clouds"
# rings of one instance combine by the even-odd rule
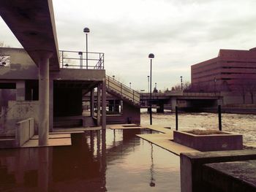
[[[190,66],[219,49],[256,47],[255,0],[53,0],[60,50],[105,53],[108,75],[147,91],[148,53],[154,53],[152,84],[165,90],[190,81]],[[20,47],[0,20],[0,41]]]

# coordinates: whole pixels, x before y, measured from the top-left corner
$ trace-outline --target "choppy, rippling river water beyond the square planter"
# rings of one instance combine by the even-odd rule
[[[145,110],[142,110],[141,113],[141,124],[149,124],[149,115]],[[175,129],[175,114],[154,112],[153,125],[168,126]],[[178,114],[178,129],[191,130],[194,128],[218,130],[218,114],[208,112]],[[222,113],[222,131],[243,134],[244,144],[256,145],[256,115]]]

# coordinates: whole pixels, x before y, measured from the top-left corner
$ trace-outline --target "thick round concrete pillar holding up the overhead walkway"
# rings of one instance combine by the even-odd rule
[[[49,51],[38,51],[39,54],[39,145],[48,145],[49,133]]]

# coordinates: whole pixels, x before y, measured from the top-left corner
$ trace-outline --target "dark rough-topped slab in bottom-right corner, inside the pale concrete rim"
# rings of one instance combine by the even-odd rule
[[[256,161],[206,164],[203,181],[211,191],[256,191]]]

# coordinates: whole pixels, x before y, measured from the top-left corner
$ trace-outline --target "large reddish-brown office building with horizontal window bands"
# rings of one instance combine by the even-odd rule
[[[216,58],[191,66],[195,91],[243,91],[256,82],[256,48],[219,50]]]

